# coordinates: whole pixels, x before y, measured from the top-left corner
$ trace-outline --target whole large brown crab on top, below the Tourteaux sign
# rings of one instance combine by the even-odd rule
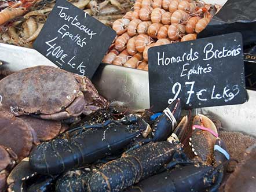
[[[2,106],[14,115],[61,120],[89,115],[108,105],[92,82],[50,66],[23,69],[0,81]]]

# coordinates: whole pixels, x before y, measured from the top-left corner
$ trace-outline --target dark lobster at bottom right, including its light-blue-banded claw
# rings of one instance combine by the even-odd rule
[[[218,191],[224,174],[224,164],[229,160],[225,144],[219,138],[214,146],[214,157],[215,165],[211,166],[194,163],[180,156],[166,166],[167,171],[151,176],[127,188],[125,192]],[[181,166],[175,167],[177,164]]]

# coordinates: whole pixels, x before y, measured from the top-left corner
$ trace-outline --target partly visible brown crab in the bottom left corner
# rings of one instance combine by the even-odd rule
[[[0,192],[5,191],[7,176],[16,160],[17,156],[11,149],[0,145]]]

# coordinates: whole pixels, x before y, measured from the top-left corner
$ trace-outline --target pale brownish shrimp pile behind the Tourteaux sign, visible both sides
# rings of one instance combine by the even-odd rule
[[[132,0],[68,1],[110,27],[116,19],[123,18],[134,3]],[[1,0],[0,42],[32,47],[54,5],[54,0]]]

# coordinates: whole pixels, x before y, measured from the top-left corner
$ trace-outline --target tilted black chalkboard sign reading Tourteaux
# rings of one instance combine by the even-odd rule
[[[57,0],[33,46],[58,67],[92,78],[116,33],[65,0]]]

